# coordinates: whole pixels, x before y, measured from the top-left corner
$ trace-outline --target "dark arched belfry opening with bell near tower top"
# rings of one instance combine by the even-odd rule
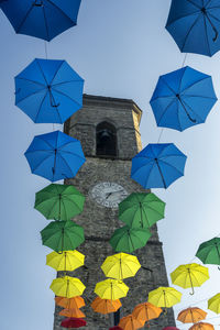
[[[97,155],[98,156],[117,156],[117,130],[103,121],[97,125]]]

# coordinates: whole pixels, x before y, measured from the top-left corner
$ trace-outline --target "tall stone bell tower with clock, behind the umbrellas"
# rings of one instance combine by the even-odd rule
[[[108,255],[116,253],[109,239],[116,229],[124,226],[118,219],[118,204],[131,193],[146,191],[130,178],[132,157],[142,150],[139,127],[141,116],[142,110],[132,100],[85,95],[82,109],[65,123],[65,133],[80,140],[87,158],[76,177],[66,180],[66,184],[74,185],[86,196],[84,212],[74,218],[85,229],[86,241],[78,251],[86,255],[86,267],[68,273],[80,278],[87,287],[82,295],[87,304],[82,309],[87,316],[87,327],[81,329],[107,330],[117,323],[119,317],[96,314],[90,304],[96,297],[96,284],[106,279],[100,266]],[[109,186],[119,191],[111,198],[105,194]],[[135,277],[124,280],[130,290],[121,299],[120,317],[132,312],[138,304],[146,301],[150,290],[168,286],[156,226],[151,231],[152,238],[145,248],[134,252],[143,267]],[[54,330],[63,329],[59,326],[63,319],[58,316],[59,310],[56,307]],[[151,324],[153,330],[175,326],[173,310],[169,309],[167,315]]]

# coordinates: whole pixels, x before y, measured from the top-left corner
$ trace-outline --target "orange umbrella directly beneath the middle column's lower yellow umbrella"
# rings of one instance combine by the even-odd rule
[[[110,300],[110,299],[101,299],[100,297],[97,297],[91,302],[91,308],[96,312],[100,314],[109,314],[114,312],[121,307],[121,301],[119,299],[117,300]]]

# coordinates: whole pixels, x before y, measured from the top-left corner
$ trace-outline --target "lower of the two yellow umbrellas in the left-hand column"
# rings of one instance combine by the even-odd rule
[[[59,277],[52,282],[50,288],[58,297],[72,298],[81,296],[86,286],[76,277]]]

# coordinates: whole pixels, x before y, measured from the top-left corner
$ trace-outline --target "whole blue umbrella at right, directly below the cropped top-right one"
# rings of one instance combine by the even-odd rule
[[[216,101],[211,77],[186,66],[160,77],[150,103],[158,127],[184,131],[205,122]]]

